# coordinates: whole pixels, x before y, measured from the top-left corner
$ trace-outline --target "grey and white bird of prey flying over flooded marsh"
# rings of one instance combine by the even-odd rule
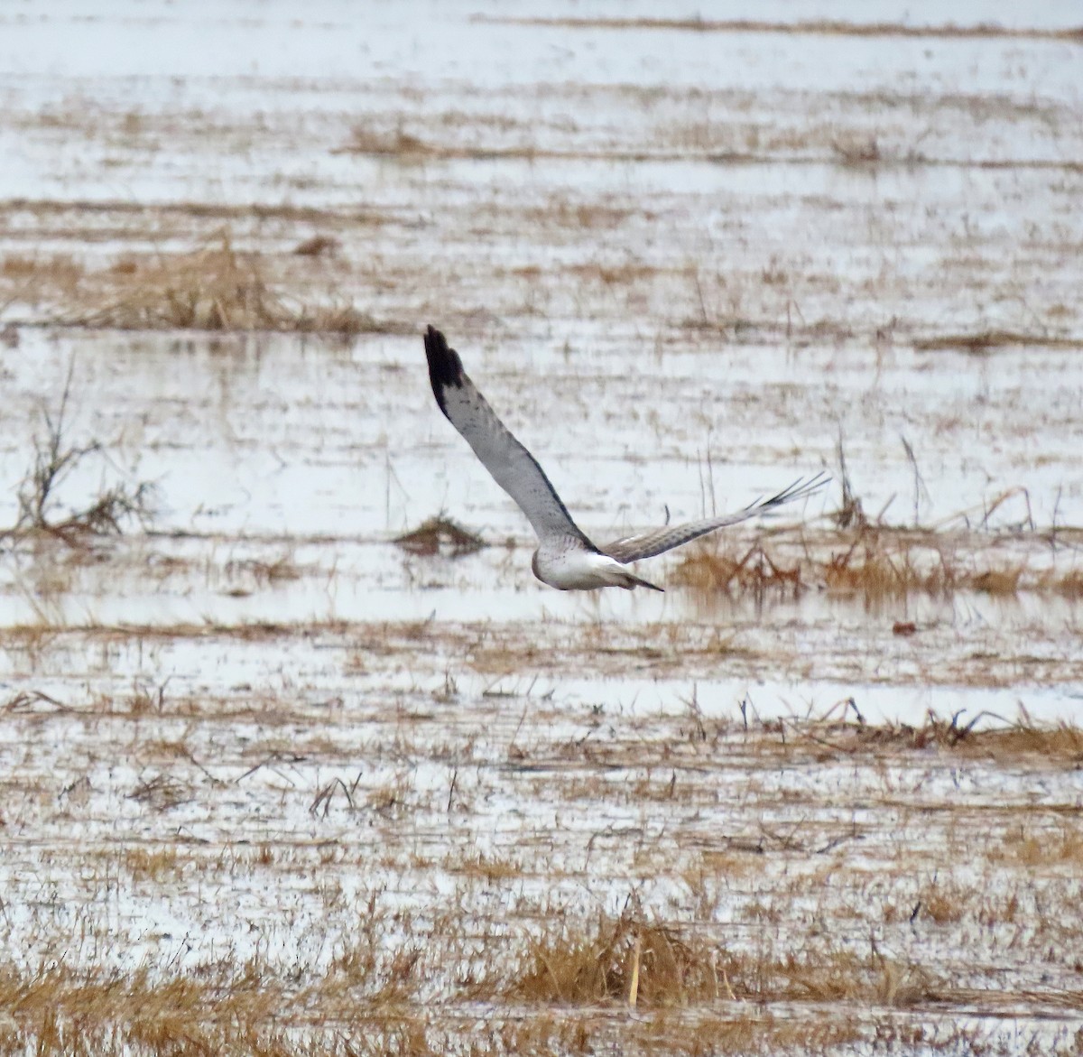
[[[474,449],[474,455],[496,483],[516,500],[537,533],[538,548],[531,561],[534,575],[543,584],[562,591],[589,591],[598,587],[623,587],[629,591],[649,587],[661,591],[661,587],[636,576],[625,565],[673,550],[708,532],[735,525],[783,504],[804,499],[831,480],[821,472],[808,481],[794,482],[778,495],[758,499],[736,513],[664,525],[596,547],[572,520],[534,456],[511,435],[478,392],[462,369],[459,354],[448,347],[435,327],[430,326],[426,331],[425,354],[440,409]]]

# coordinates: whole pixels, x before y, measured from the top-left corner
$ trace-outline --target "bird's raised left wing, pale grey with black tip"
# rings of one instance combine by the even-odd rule
[[[429,380],[440,409],[474,449],[496,483],[519,504],[538,539],[571,536],[593,550],[579,531],[542,467],[511,435],[462,369],[459,354],[430,326],[425,335]]]

